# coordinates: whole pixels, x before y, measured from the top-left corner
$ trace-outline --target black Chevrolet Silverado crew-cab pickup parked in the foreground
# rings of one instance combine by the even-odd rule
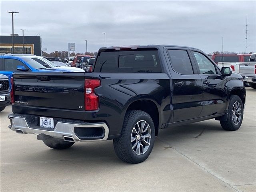
[[[242,124],[242,77],[190,47],[100,48],[93,71],[19,73],[12,80],[9,128],[38,134],[54,149],[114,140],[117,156],[143,162],[163,128],[215,118]]]

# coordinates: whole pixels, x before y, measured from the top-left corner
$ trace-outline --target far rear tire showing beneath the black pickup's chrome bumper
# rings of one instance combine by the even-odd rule
[[[46,146],[53,149],[67,149],[74,144],[74,142],[64,141],[62,139],[53,138],[48,135],[45,135],[42,138],[42,141],[44,142],[44,144],[46,144]]]

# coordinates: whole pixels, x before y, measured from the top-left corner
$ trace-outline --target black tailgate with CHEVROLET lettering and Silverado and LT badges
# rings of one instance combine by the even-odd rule
[[[84,73],[14,74],[13,112],[84,120]]]

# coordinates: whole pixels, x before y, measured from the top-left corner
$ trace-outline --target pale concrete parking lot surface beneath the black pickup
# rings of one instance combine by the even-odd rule
[[[256,91],[246,94],[238,131],[215,120],[160,130],[140,164],[119,160],[112,140],[54,150],[16,134],[8,106],[0,113],[0,191],[256,191]]]

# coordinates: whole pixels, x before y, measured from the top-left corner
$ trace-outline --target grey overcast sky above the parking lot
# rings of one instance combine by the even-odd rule
[[[42,37],[47,52],[95,52],[104,46],[173,44],[210,53],[256,52],[256,1],[4,1],[0,0],[0,35],[14,33]],[[38,35],[39,36],[39,35]]]

